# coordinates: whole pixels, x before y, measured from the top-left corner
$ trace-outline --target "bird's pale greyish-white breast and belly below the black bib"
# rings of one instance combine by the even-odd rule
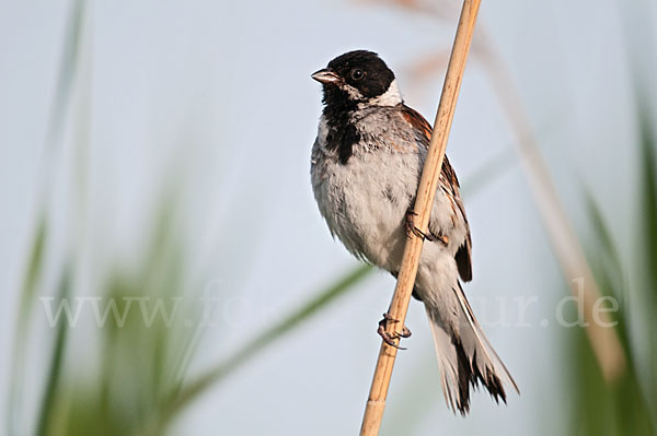
[[[414,143],[396,137],[395,144],[358,144],[348,162],[341,164],[335,152],[324,148],[325,135],[321,122],[311,178],[331,233],[354,256],[397,271],[406,240],[405,214],[417,190],[423,156]],[[445,223],[443,228],[452,227],[449,200],[440,190],[437,193],[431,214]],[[440,244],[426,244],[422,261],[434,263],[442,250]]]

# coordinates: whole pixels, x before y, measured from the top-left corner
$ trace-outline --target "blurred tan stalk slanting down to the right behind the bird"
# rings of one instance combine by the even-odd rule
[[[436,4],[431,8],[425,8],[414,1],[396,0],[395,2],[408,10],[429,13],[437,19],[445,17],[442,4],[440,4],[440,8]],[[603,294],[591,272],[545,161],[541,156],[540,144],[527,109],[522,104],[518,87],[511,79],[508,67],[502,61],[498,50],[489,44],[489,38],[486,37],[481,24],[474,39],[473,51],[473,56],[483,61],[491,84],[508,119],[511,131],[516,135],[515,143],[518,156],[562,271],[568,281],[580,281],[580,286],[570,285],[569,287],[578,299],[578,304],[581,305],[579,310],[584,316],[585,325],[588,326],[585,331],[588,334],[604,379],[608,382],[613,382],[624,374],[627,365],[619,333],[613,327],[608,327],[612,326],[611,316],[607,311],[595,309],[596,304],[602,298]],[[443,54],[440,51],[437,56],[416,66],[414,68],[416,75],[418,71],[425,74],[427,71],[440,66],[442,56]],[[579,295],[579,287],[581,287],[581,296]],[[596,315],[593,315],[593,311],[596,311]],[[596,322],[595,316],[598,316],[601,322]]]

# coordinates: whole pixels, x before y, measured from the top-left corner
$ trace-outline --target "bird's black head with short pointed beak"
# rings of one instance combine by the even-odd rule
[[[324,103],[327,105],[345,101],[361,103],[382,96],[391,90],[394,73],[376,52],[349,51],[328,62],[328,67],[312,74],[324,85]],[[401,102],[401,97],[399,97]],[[399,102],[397,102],[399,103]]]

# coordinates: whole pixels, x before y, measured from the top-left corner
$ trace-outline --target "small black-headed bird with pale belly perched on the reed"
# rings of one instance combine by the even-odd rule
[[[396,278],[406,238],[425,239],[413,296],[424,303],[448,406],[470,411],[470,390],[481,382],[506,403],[519,393],[486,339],[461,281],[472,280],[472,238],[459,181],[447,156],[427,232],[413,224],[413,204],[431,137],[430,123],[404,104],[392,70],[376,54],[355,50],[311,75],[322,84],[323,110],[311,151],[314,198],[332,236],[356,258]],[[392,337],[384,314],[379,333]]]

